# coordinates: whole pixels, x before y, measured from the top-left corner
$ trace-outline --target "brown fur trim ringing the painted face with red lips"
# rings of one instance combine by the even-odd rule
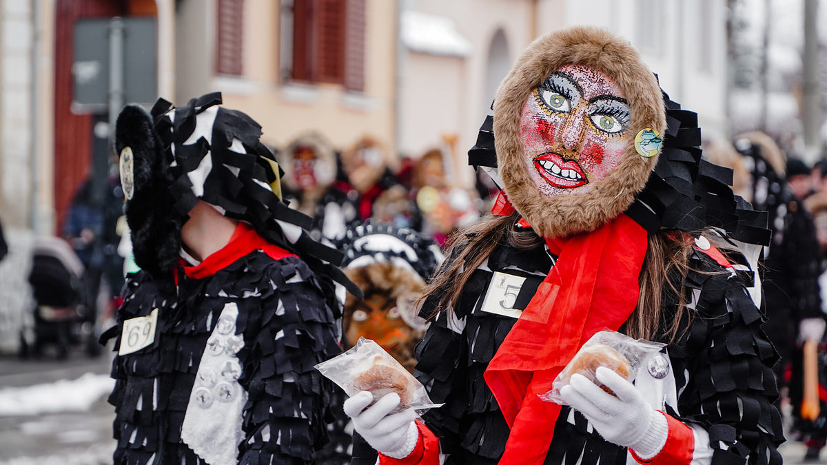
[[[619,165],[586,193],[541,194],[523,159],[519,120],[528,95],[563,65],[586,65],[614,80],[632,114]],[[662,93],[655,75],[627,41],[595,27],[578,26],[538,38],[505,77],[494,103],[497,165],[514,207],[543,237],[590,232],[623,213],[643,189],[657,163],[634,148],[644,128],[666,130]]]

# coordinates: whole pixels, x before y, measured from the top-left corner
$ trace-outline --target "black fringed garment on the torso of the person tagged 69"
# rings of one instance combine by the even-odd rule
[[[190,393],[203,386],[196,378],[202,357],[210,357],[208,339],[224,306],[234,303],[238,319],[227,338],[243,340],[237,388],[249,396],[238,461],[310,463],[314,445],[327,435],[332,406],[332,386],[313,365],[341,352],[334,333],[340,315],[304,261],[273,260],[256,251],[201,279],[182,272],[177,292],[172,286],[156,291],[160,287],[146,273],[133,276],[117,312],[122,324],[159,309],[159,336],[151,348],[119,356],[113,364],[115,462],[148,463],[155,454],[174,463],[202,463],[181,441],[181,427]]]

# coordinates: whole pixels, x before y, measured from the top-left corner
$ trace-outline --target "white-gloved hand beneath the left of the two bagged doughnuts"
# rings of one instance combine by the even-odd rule
[[[344,410],[353,420],[353,429],[377,452],[390,458],[408,457],[419,440],[419,430],[414,422],[416,411],[405,409],[388,415],[400,402],[395,392],[382,396],[366,409],[372,401],[373,394],[368,391],[345,400]]]

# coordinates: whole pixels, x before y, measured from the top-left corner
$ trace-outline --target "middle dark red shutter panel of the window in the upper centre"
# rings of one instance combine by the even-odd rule
[[[344,84],[345,0],[316,1],[316,80]]]

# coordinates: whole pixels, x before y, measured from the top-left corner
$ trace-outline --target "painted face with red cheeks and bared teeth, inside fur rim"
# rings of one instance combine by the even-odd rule
[[[520,115],[528,173],[547,196],[586,192],[619,164],[631,109],[619,86],[565,65],[528,95]]]

